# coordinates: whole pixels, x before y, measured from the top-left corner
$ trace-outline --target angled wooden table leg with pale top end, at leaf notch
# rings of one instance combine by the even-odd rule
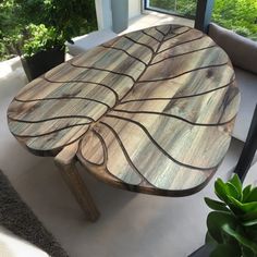
[[[86,213],[87,219],[94,222],[99,218],[100,213],[75,166],[75,149],[76,145],[65,147],[54,158],[54,162],[78,205]]]

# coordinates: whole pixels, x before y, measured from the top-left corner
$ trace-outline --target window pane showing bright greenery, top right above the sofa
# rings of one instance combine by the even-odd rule
[[[212,21],[257,40],[257,0],[216,0]]]

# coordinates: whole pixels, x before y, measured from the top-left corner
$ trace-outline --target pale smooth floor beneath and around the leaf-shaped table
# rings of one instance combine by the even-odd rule
[[[115,189],[79,169],[101,211],[98,222],[86,221],[52,159],[28,154],[8,130],[8,105],[25,83],[20,68],[0,73],[0,169],[71,257],[184,257],[203,244],[204,196],[213,195],[215,179],[198,194],[170,198]],[[241,148],[232,140],[216,176],[231,174]]]

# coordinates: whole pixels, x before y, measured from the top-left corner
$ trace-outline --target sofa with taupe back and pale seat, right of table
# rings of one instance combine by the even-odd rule
[[[208,35],[228,53],[234,66],[241,105],[233,137],[245,142],[257,102],[257,42],[215,23],[209,24]]]

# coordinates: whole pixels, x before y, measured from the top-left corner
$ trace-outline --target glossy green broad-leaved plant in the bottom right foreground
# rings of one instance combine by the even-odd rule
[[[210,257],[257,256],[257,187],[242,187],[235,174],[224,183],[218,179],[215,193],[220,200],[205,198],[211,211],[207,218],[206,243]]]

